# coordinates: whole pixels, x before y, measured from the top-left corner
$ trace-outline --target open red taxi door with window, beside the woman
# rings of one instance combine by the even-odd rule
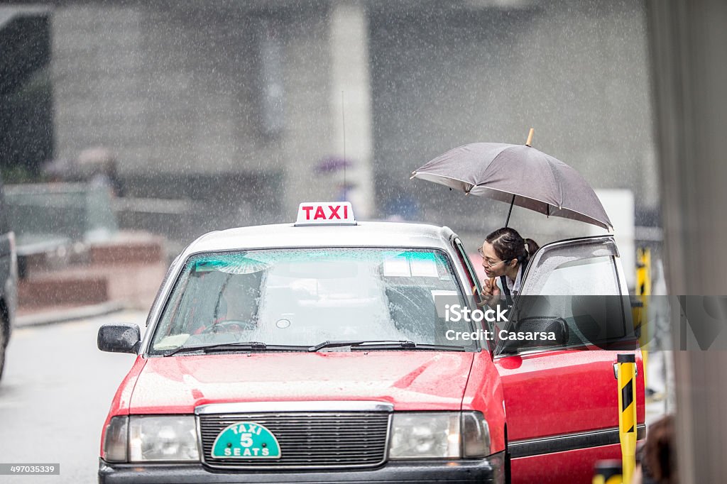
[[[598,347],[603,334],[633,334],[627,326],[631,308],[614,239],[598,236],[543,246],[531,259],[521,287],[511,311],[515,321],[508,323],[511,330],[517,331],[518,318],[547,318],[563,323],[567,331],[556,343],[529,342],[513,349],[510,342],[500,341],[495,348],[512,482],[590,483],[596,460],[621,455],[614,378],[619,352],[637,354],[639,438],[646,429],[638,344],[620,351]],[[532,299],[539,302],[531,304]],[[529,309],[522,311],[525,305]]]

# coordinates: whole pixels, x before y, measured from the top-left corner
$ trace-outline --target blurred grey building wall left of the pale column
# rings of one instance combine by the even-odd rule
[[[57,156],[104,145],[118,153],[127,195],[251,206],[223,223],[279,217],[289,198],[329,198],[312,170],[332,155],[326,8],[57,7]]]

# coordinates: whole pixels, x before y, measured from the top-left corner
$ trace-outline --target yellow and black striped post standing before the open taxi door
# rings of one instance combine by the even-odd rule
[[[632,353],[618,355],[616,363],[622,475],[624,484],[630,484],[636,467],[636,356]]]

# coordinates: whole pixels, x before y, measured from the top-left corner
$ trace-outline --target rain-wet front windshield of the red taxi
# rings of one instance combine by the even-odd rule
[[[446,339],[444,300],[464,304],[449,258],[441,251],[197,254],[188,259],[172,290],[150,354],[206,344],[301,347],[337,340],[461,348],[462,342]]]

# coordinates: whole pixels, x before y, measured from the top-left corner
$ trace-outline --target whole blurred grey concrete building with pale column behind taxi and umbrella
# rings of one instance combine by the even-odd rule
[[[530,127],[595,187],[631,190],[638,224],[658,210],[640,2],[59,0],[48,15],[54,157],[103,145],[127,196],[204,201],[189,235],[347,188],[361,218],[494,229],[507,207],[409,174]],[[529,217],[514,225],[539,242],[587,230]]]

